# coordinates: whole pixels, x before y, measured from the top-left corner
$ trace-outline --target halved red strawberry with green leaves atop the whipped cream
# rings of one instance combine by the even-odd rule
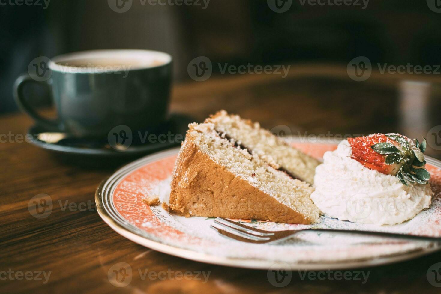
[[[424,168],[426,140],[418,140],[400,134],[372,134],[366,137],[348,138],[352,158],[363,166],[386,175],[397,176],[404,185],[426,184],[430,174]]]

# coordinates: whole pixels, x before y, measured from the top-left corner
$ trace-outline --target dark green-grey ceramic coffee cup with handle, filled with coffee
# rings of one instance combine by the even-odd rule
[[[132,131],[164,123],[172,83],[172,56],[148,50],[75,52],[30,64],[14,85],[17,104],[47,131],[78,137],[107,136],[124,125]],[[46,86],[56,119],[39,115],[24,96],[26,84]],[[32,97],[29,97],[32,99]]]

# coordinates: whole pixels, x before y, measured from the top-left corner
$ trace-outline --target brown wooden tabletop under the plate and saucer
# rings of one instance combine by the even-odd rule
[[[417,78],[433,81],[426,76]],[[346,75],[345,67],[297,65],[284,79],[271,75],[237,75],[177,85],[171,111],[202,120],[224,108],[259,120],[268,128],[287,125],[297,135],[327,134],[328,131],[342,135],[375,131],[406,134],[400,119],[402,109],[396,106],[400,101],[398,88],[402,79],[373,73],[366,82],[353,82]],[[425,118],[433,125],[436,119],[439,123],[439,114]],[[426,272],[432,264],[441,261],[441,253],[355,270],[370,272],[365,284],[359,280],[302,279],[299,272],[293,272],[291,283],[277,288],[269,283],[267,271],[203,264],[139,246],[112,231],[93,205],[101,180],[132,159],[82,160],[55,156],[22,142],[20,135],[26,134],[31,123],[22,114],[0,118],[0,134],[11,134],[12,138],[11,142],[8,139],[0,143],[2,293],[439,293],[439,289],[428,282]],[[419,123],[415,122],[415,126],[418,129]],[[424,127],[416,131],[421,135],[427,132]],[[428,152],[441,158],[437,150]],[[28,202],[37,194],[48,194],[53,201],[52,213],[44,219],[37,219],[28,211]],[[64,209],[66,204],[71,208]],[[131,264],[135,272],[137,269],[205,271],[210,275],[208,282],[202,283],[186,279],[141,279],[134,274],[127,287],[116,288],[107,274],[118,262]],[[51,272],[49,279],[45,281],[44,275],[35,279],[38,271],[46,275]],[[28,279],[21,276],[21,272]]]

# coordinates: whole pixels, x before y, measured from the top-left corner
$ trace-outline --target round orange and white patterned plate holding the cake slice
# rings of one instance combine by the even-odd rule
[[[296,148],[321,158],[336,144],[293,143]],[[213,219],[175,216],[161,205],[150,207],[142,199],[158,195],[167,201],[179,148],[143,157],[122,167],[98,187],[95,201],[101,218],[116,232],[142,246],[174,256],[241,268],[269,269],[283,262],[293,270],[359,268],[422,256],[441,249],[441,243],[407,241],[355,234],[300,232],[288,241],[272,245],[229,240],[210,229]],[[413,220],[394,226],[339,221],[321,216],[315,227],[441,236],[441,162],[426,156],[435,191],[432,205]],[[287,230],[305,225],[239,220],[264,230]]]

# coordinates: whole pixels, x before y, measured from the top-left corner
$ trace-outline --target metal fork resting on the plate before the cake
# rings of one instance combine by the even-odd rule
[[[255,229],[243,225],[241,223],[236,223],[232,220],[224,219],[218,217],[215,221],[220,227],[210,226],[212,229],[216,230],[219,234],[224,237],[234,239],[237,241],[256,243],[256,244],[268,244],[273,242],[279,242],[281,240],[288,239],[292,235],[302,232],[302,231],[321,231],[321,232],[336,232],[336,233],[350,233],[350,234],[363,234],[371,236],[380,237],[392,237],[392,238],[402,238],[420,241],[437,241],[441,242],[441,237],[427,237],[427,236],[417,236],[417,235],[407,235],[407,234],[396,234],[396,233],[386,233],[386,232],[375,232],[375,231],[357,231],[357,230],[336,230],[336,229],[300,229],[300,230],[289,230],[289,231],[264,231]]]

